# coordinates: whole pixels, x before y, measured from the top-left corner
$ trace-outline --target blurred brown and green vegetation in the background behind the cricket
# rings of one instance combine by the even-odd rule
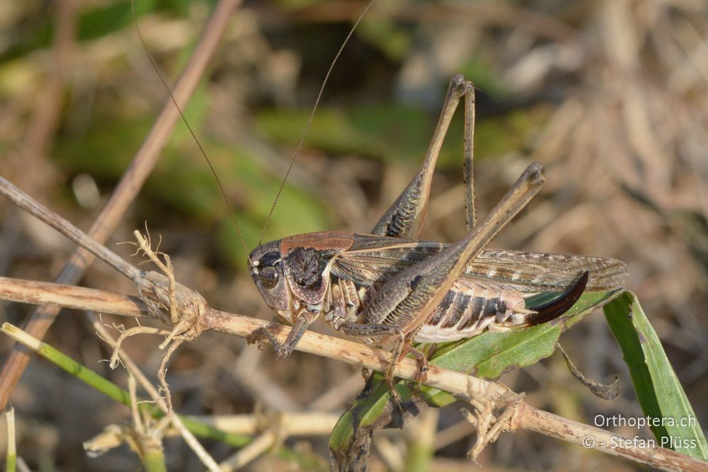
[[[140,29],[170,84],[190,56],[212,1],[137,0]],[[321,81],[360,1],[246,1],[185,110],[229,202],[256,246]],[[406,185],[430,139],[447,83],[477,86],[476,195],[481,214],[530,161],[547,185],[493,246],[620,258],[700,422],[708,394],[708,5],[701,0],[379,1],[356,30],[324,91],[265,239],[306,231],[368,231]],[[129,1],[0,4],[0,175],[88,229],[152,125],[166,91],[142,49]],[[445,142],[424,237],[464,234],[462,114]],[[0,201],[0,273],[52,280],[72,244]],[[218,309],[270,318],[246,273],[227,206],[193,139],[178,125],[108,247],[126,257],[133,229],[161,234],[178,280]],[[136,263],[137,260],[133,259]],[[133,293],[101,263],[83,284]],[[3,304],[23,324],[26,306]],[[109,321],[106,321],[107,323]],[[116,322],[126,322],[118,320]],[[126,322],[127,323],[127,322]],[[329,332],[318,323],[316,330]],[[77,313],[47,337],[125,385],[98,363],[104,343]],[[622,356],[600,313],[561,338],[588,376],[622,394],[598,400],[559,355],[502,381],[539,408],[593,424],[641,416]],[[128,341],[156,372],[156,338]],[[11,349],[0,340],[0,355]],[[239,339],[206,333],[169,370],[181,413],[341,410],[357,369],[295,353],[273,362]],[[119,449],[88,459],[81,442],[127,409],[49,364],[30,364],[12,399],[20,454],[41,470],[125,470]],[[440,411],[434,470],[462,470],[471,426]],[[457,429],[455,429],[457,428]],[[617,430],[649,437],[649,430]],[[0,432],[4,434],[4,430]],[[379,440],[379,439],[377,439]],[[405,435],[386,436],[396,447]],[[4,441],[1,442],[4,444]],[[326,468],[326,437],[289,439]],[[171,468],[198,468],[178,440]],[[385,446],[379,449],[384,450]],[[215,457],[228,449],[211,445]],[[386,457],[387,454],[382,454]],[[317,459],[319,457],[319,459]],[[276,467],[266,457],[253,470]],[[634,470],[619,459],[532,433],[504,434],[481,464],[494,470]],[[391,463],[389,459],[389,464]],[[375,458],[372,470],[382,470]]]

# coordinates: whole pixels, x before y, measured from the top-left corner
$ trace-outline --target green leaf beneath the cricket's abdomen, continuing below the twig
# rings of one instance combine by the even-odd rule
[[[430,364],[474,374],[484,379],[496,379],[511,369],[526,367],[552,355],[555,343],[563,331],[578,323],[594,309],[617,297],[619,293],[614,291],[583,294],[556,322],[507,333],[488,331],[474,338],[438,347],[430,357]],[[545,292],[527,299],[527,305],[537,306],[557,296],[556,293]],[[449,405],[455,401],[450,393],[430,386],[421,386],[417,395],[412,396],[409,381],[399,381],[395,388],[404,399],[404,413],[409,416],[417,414],[421,408],[421,405],[415,402],[416,398],[435,407]],[[392,414],[390,400],[391,391],[383,375],[375,374],[365,391],[353,401],[334,427],[329,442],[332,453],[335,456],[345,456],[347,451],[360,441],[362,432],[367,434],[374,428],[392,427],[395,422],[389,420]]]

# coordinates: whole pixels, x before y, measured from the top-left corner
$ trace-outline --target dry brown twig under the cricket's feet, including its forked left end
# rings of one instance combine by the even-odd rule
[[[69,287],[62,284],[0,277],[0,299],[33,304],[62,304],[60,306],[85,310],[96,310],[98,308],[98,311],[103,311],[104,313],[124,316],[151,316],[166,323],[168,326],[172,326],[173,316],[171,316],[171,313],[176,310],[178,316],[175,318],[177,325],[174,326],[174,329],[179,328],[180,331],[173,338],[179,342],[193,339],[204,330],[229,333],[241,338],[249,338],[256,330],[263,328],[270,329],[276,337],[287,335],[290,332],[290,327],[288,326],[271,325],[249,316],[212,309],[200,294],[188,289],[188,287],[184,287],[177,282],[174,282],[171,287],[169,277],[157,272],[144,273],[137,270],[137,268],[126,263],[113,253],[113,251],[86,236],[69,221],[62,219],[50,209],[35,202],[32,197],[24,194],[1,177],[0,193],[30,214],[42,219],[52,228],[57,229],[57,231],[69,237],[75,243],[94,253],[94,255],[115,267],[123,275],[130,277],[136,282],[140,294],[140,298],[136,298],[84,287]],[[149,246],[147,246],[147,249],[152,252]],[[175,303],[169,306],[171,299]],[[106,302],[107,300],[108,302]],[[188,322],[182,323],[182,320],[188,320]],[[389,352],[340,338],[312,333],[312,331],[307,331],[303,335],[302,340],[297,345],[297,350],[331,357],[379,372],[385,372],[389,367]],[[418,369],[415,359],[405,358],[396,364],[394,375],[401,379],[417,381]],[[471,451],[472,457],[479,454],[484,444],[496,439],[501,431],[527,429],[580,444],[583,447],[588,447],[587,438],[591,437],[593,438],[593,449],[625,457],[642,464],[649,464],[666,471],[708,471],[707,462],[679,454],[671,449],[662,447],[630,447],[627,445],[632,444],[630,439],[622,438],[626,440],[618,442],[616,439],[621,437],[616,434],[538,410],[525,403],[520,396],[496,382],[477,379],[461,372],[442,369],[431,364],[428,369],[426,385],[462,395],[463,398],[474,398],[472,404],[477,410],[474,422],[479,427],[479,437],[478,443]],[[506,408],[510,404],[512,405],[511,408],[507,408],[507,412],[502,413],[500,418],[495,419],[491,416],[493,410]],[[171,417],[176,418],[176,415],[172,414]],[[613,437],[615,441],[612,440]],[[262,442],[263,444],[273,444],[272,439],[264,437]],[[621,444],[622,446],[615,447],[616,444]]]

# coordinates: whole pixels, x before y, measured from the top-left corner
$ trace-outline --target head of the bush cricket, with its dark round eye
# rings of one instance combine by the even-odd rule
[[[265,304],[275,311],[286,311],[289,297],[282,273],[279,241],[258,246],[251,252],[250,260],[251,277]]]

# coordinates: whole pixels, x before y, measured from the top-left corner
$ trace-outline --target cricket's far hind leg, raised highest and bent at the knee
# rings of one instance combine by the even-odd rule
[[[440,113],[438,125],[435,127],[433,139],[430,140],[423,165],[406,190],[401,192],[401,195],[379,219],[371,231],[372,234],[411,239],[420,236],[428,212],[428,197],[435,163],[438,161],[442,140],[445,139],[452,115],[455,114],[455,109],[462,96],[465,97],[465,165],[469,168],[469,172],[472,172],[472,132],[469,130],[474,127],[474,96],[469,97],[473,92],[474,85],[471,81],[465,80],[462,75],[457,75],[450,81],[445,103],[442,105],[442,113]],[[469,113],[469,108],[472,108],[472,113]],[[467,165],[467,154],[469,154],[469,165]],[[469,184],[472,185],[472,180],[469,180]],[[474,202],[469,207],[474,208]]]

